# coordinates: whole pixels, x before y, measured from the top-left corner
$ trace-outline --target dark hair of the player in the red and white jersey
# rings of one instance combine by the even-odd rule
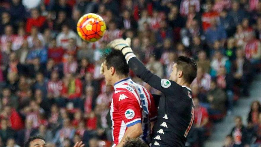
[[[125,56],[120,50],[112,49],[109,53],[104,53],[107,69],[114,67],[117,75],[128,76],[129,66]]]

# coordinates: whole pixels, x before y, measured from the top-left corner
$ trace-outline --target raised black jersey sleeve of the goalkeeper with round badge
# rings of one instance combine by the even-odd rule
[[[157,75],[150,72],[136,57],[131,58],[128,61],[128,65],[135,75],[137,75],[137,77],[141,78],[141,80],[148,83],[153,88],[161,91],[165,95],[173,95],[175,90],[179,89],[179,85],[176,82],[172,80],[161,79]]]

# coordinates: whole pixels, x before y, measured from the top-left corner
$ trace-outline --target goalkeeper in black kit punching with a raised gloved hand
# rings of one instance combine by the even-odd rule
[[[157,121],[153,127],[151,146],[184,147],[194,120],[190,84],[197,75],[197,64],[189,57],[180,56],[168,79],[152,74],[130,48],[130,39],[116,39],[108,44],[121,50],[133,72],[153,88],[162,92]]]

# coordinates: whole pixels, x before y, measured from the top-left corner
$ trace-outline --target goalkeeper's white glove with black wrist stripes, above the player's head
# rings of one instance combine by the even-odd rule
[[[131,58],[136,57],[132,49],[130,48],[130,42],[131,42],[130,38],[115,39],[108,44],[108,47],[114,48],[115,50],[120,50],[122,54],[125,56],[125,59],[128,63],[128,61]]]

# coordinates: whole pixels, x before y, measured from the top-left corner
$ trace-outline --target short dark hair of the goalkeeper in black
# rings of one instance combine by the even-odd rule
[[[192,81],[197,76],[198,66],[194,59],[185,57],[185,56],[179,56],[179,58],[176,60],[177,64],[177,70],[181,70],[183,72],[183,79],[191,84]]]

